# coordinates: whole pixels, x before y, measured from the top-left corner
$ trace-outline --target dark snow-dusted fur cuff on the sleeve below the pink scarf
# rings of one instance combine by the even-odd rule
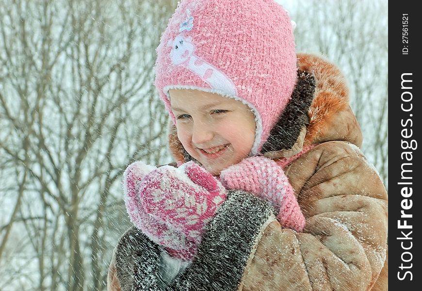
[[[169,290],[238,290],[263,230],[276,219],[274,212],[268,202],[252,194],[230,192],[207,225],[192,264]]]

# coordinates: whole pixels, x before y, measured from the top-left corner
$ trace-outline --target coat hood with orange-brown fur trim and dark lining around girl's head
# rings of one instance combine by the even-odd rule
[[[313,144],[346,141],[362,144],[362,133],[349,105],[341,71],[321,56],[297,54],[298,77],[292,99],[261,149],[268,158],[289,158]],[[169,122],[169,147],[176,161],[193,158],[184,150]]]

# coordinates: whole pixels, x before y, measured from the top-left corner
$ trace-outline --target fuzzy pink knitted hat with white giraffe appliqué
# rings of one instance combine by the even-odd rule
[[[295,82],[291,20],[274,0],[182,0],[157,48],[155,85],[173,123],[169,89],[241,100],[256,119],[251,155],[265,143]]]

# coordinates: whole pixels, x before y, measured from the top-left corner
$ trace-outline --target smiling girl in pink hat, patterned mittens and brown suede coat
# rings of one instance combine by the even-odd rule
[[[177,162],[125,171],[109,290],[386,290],[386,190],[282,7],[181,1],[157,54]]]

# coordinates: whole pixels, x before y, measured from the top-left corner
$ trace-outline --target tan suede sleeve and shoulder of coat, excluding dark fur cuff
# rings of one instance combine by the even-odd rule
[[[314,147],[286,169],[306,217],[302,233],[272,222],[242,280],[247,290],[371,290],[386,259],[386,190],[360,150]],[[379,284],[377,284],[379,285]]]

